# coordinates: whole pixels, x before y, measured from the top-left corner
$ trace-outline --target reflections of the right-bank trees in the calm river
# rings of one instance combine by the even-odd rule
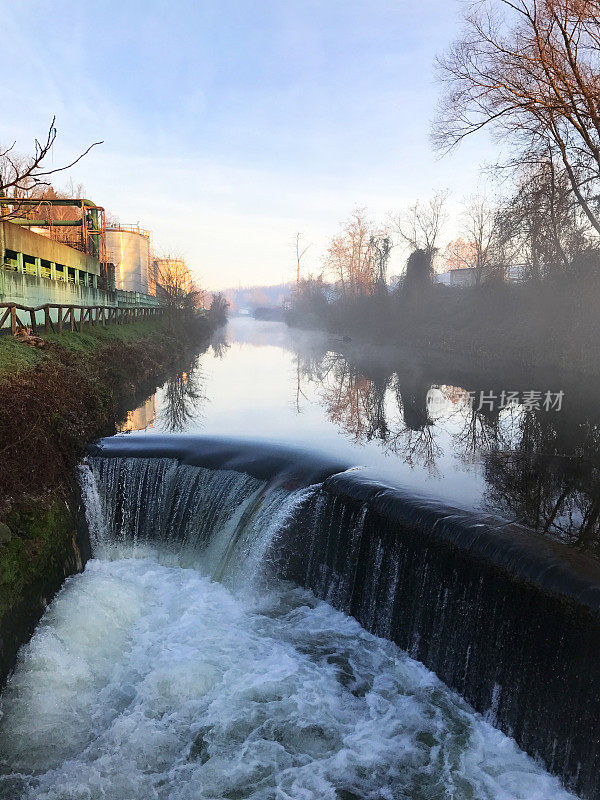
[[[418,371],[367,377],[336,353],[298,356],[298,398],[302,380],[319,386],[329,418],[355,442],[376,440],[410,465],[435,471],[442,454],[436,437],[445,427],[460,459],[482,460],[490,510],[582,547],[600,546],[600,424],[585,414],[478,410],[460,401],[464,390],[436,387],[450,392],[450,402],[443,421],[433,421],[432,384]]]

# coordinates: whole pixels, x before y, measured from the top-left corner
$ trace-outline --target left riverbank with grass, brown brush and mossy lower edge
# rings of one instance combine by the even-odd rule
[[[63,580],[88,556],[74,475],[128,398],[185,368],[209,316],[0,339],[0,685]]]

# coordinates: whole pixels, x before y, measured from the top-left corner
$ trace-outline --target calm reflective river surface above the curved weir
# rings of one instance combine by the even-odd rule
[[[594,391],[556,374],[484,372],[456,356],[386,352],[242,317],[121,430],[303,445],[596,553]]]

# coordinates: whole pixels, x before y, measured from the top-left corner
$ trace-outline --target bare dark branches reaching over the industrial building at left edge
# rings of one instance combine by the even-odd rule
[[[10,198],[12,202],[0,204],[0,219],[19,216],[22,207],[19,200],[41,197],[51,188],[50,179],[59,172],[74,167],[90,150],[102,142],[94,142],[83,153],[68,164],[60,167],[48,167],[47,158],[56,141],[56,117],[52,118],[46,138],[34,143],[34,152],[30,156],[21,156],[16,152],[16,142],[10,147],[0,149],[0,198]]]

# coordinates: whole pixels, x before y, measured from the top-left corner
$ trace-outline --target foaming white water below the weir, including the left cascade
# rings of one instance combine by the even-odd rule
[[[154,505],[106,492],[131,470]],[[1,798],[572,797],[395,645],[267,580],[314,489],[166,459],[98,463],[84,489],[95,557],[9,681]]]

